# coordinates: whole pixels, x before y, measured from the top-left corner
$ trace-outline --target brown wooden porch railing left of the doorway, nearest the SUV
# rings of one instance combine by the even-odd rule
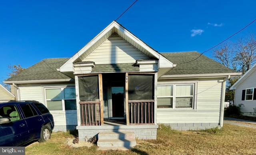
[[[100,101],[79,102],[81,125],[101,125]]]

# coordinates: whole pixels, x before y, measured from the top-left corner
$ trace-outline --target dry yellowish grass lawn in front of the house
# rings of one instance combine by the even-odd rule
[[[174,131],[169,127],[160,126],[156,140],[138,140],[137,146],[129,151],[97,151],[97,147],[72,148],[66,145],[69,133],[52,134],[46,143],[36,143],[26,147],[26,154],[140,154],[140,155],[230,155],[256,154],[256,129],[225,124],[223,129],[205,131]]]

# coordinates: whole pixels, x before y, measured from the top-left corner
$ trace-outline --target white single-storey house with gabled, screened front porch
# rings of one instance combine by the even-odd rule
[[[159,53],[114,21],[72,58],[44,59],[5,83],[44,103],[55,131],[156,139],[158,124],[222,127],[226,79],[237,75],[198,52]]]

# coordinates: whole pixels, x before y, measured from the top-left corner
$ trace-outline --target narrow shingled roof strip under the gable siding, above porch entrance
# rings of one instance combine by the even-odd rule
[[[133,63],[125,64],[96,64],[92,68],[92,73],[98,72],[139,72],[140,68]]]

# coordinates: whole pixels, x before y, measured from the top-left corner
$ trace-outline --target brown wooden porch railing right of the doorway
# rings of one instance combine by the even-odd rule
[[[154,100],[128,101],[130,124],[154,123]]]

